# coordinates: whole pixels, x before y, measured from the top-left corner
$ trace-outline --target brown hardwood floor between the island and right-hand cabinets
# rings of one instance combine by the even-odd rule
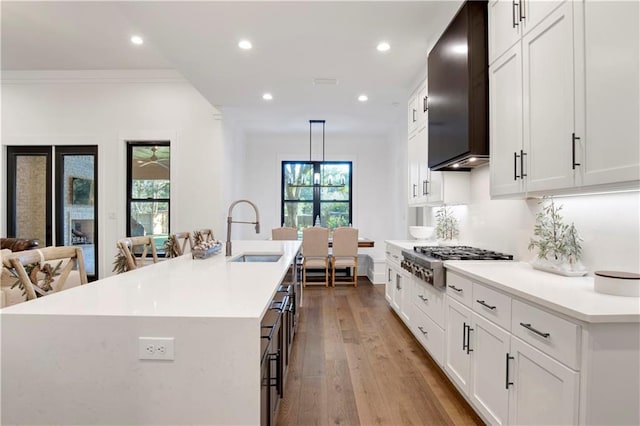
[[[384,286],[306,287],[277,425],[483,424]]]

